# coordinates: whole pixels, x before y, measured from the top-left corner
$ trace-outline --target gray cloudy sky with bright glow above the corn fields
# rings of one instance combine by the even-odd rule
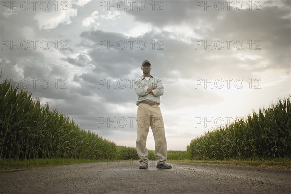
[[[143,60],[164,82],[169,150],[291,95],[290,0],[0,6],[2,74],[117,145],[135,146]]]

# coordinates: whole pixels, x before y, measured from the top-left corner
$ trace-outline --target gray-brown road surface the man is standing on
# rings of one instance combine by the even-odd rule
[[[290,171],[171,165],[102,162],[1,173],[0,194],[291,194]]]

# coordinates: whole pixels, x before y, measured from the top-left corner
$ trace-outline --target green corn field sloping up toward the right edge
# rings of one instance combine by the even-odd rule
[[[192,158],[278,158],[291,157],[290,97],[259,109],[246,119],[205,132],[191,141]]]

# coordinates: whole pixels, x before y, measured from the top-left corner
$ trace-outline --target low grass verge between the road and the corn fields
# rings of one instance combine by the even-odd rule
[[[27,170],[37,167],[62,166],[81,163],[113,162],[116,160],[89,159],[31,159],[31,160],[0,160],[0,173]],[[138,160],[120,160],[138,163]],[[156,161],[150,161],[155,163]],[[272,169],[291,170],[291,158],[277,158],[272,160],[168,160],[168,163],[192,163],[207,165],[227,165],[242,167],[262,167]]]

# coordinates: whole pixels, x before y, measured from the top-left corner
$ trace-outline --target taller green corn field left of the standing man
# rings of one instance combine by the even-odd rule
[[[134,148],[116,146],[81,129],[56,109],[51,111],[48,103],[42,106],[19,84],[7,79],[0,83],[0,160],[121,157],[136,159],[137,154]]]

